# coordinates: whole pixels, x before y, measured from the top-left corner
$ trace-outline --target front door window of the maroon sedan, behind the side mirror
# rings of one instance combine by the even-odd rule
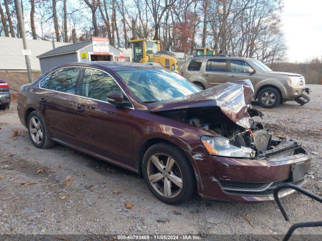
[[[97,69],[85,69],[81,95],[92,99],[107,101],[110,93],[123,93],[115,80],[107,73]]]

